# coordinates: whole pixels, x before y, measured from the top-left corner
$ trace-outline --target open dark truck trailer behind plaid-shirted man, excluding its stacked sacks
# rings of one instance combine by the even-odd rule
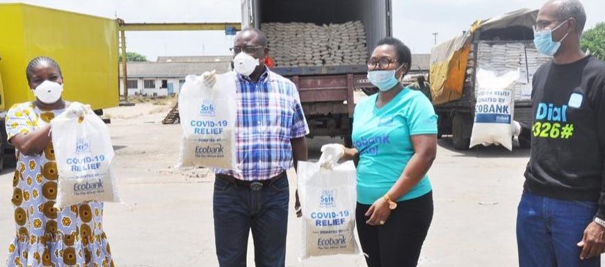
[[[328,26],[361,21],[366,35],[364,62],[380,39],[392,35],[391,10],[390,0],[243,0],[241,4],[242,28],[261,31],[271,23]],[[354,89],[374,87],[366,78],[366,64],[280,66],[279,60],[275,64],[271,70],[298,87],[309,137],[343,137],[350,145]]]

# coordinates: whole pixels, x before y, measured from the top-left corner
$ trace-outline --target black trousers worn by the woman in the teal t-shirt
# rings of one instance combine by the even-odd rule
[[[369,267],[412,267],[433,221],[433,192],[397,203],[384,225],[367,225],[371,205],[357,203],[355,218]]]

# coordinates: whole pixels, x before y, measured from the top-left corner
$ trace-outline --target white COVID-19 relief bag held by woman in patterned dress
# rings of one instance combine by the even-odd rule
[[[92,111],[81,117],[56,117],[51,132],[58,171],[55,207],[88,200],[120,202],[111,170],[111,136],[103,120]],[[51,171],[45,167],[43,171]]]

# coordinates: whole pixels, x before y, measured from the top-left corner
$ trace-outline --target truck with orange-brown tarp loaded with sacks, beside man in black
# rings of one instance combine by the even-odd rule
[[[478,89],[478,69],[503,74],[519,70],[514,83],[516,121],[531,121],[531,80],[550,57],[533,44],[538,10],[522,9],[491,19],[478,20],[468,31],[435,46],[430,53],[430,94],[439,116],[438,134],[452,135],[453,147],[469,149]],[[529,142],[519,140],[522,148]]]

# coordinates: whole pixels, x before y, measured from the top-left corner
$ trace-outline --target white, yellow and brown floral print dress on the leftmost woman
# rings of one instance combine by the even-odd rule
[[[31,102],[14,105],[6,115],[8,139],[45,126],[61,112],[42,111]],[[53,207],[58,173],[52,143],[40,155],[16,154],[11,199],[16,227],[8,267],[113,266],[103,232],[103,203]]]

